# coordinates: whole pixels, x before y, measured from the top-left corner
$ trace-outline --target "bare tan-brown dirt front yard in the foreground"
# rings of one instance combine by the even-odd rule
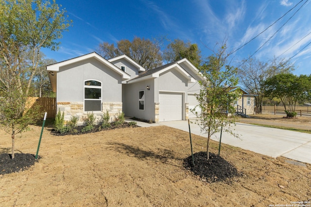
[[[35,154],[40,130],[32,126],[18,135],[17,152]],[[187,132],[161,126],[53,136],[50,130],[44,130],[35,165],[0,175],[0,206],[262,207],[311,201],[311,164],[222,144],[221,156],[244,176],[207,183],[184,170]],[[192,142],[194,152],[205,150],[205,138],[192,135]],[[0,153],[10,147],[10,135],[0,131]],[[211,152],[218,153],[218,143],[212,142]]]

